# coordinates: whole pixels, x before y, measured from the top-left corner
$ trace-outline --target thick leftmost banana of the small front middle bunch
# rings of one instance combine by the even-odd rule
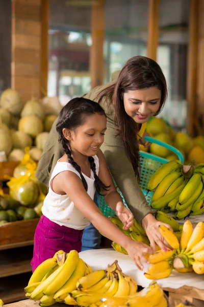
[[[94,284],[96,284],[99,280],[103,279],[106,276],[105,270],[98,270],[81,277],[77,282],[77,289],[84,291]]]

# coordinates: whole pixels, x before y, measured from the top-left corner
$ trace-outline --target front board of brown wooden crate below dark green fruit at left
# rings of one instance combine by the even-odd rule
[[[16,221],[0,226],[0,247],[2,245],[31,241],[39,218],[33,220]]]

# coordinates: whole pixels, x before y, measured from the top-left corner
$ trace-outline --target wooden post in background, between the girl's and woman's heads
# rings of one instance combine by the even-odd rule
[[[104,77],[105,1],[92,2],[90,76],[91,89],[103,84]]]

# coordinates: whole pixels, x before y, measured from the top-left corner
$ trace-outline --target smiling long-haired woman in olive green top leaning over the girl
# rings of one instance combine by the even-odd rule
[[[106,112],[107,131],[101,150],[127,206],[144,227],[152,250],[155,251],[156,244],[166,250],[159,232],[159,226],[164,223],[156,220],[156,211],[148,206],[138,185],[138,133],[142,124],[161,112],[167,97],[166,80],[160,66],[147,57],[132,57],[124,64],[116,81],[95,87],[84,97],[100,103]],[[62,155],[54,123],[36,172],[41,182],[48,185],[50,173]]]

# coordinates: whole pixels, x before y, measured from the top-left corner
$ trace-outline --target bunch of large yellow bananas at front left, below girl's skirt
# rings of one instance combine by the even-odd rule
[[[76,290],[79,278],[92,272],[77,251],[68,254],[58,251],[53,258],[42,262],[31,276],[28,286],[24,288],[27,298],[40,300],[45,307],[62,301],[69,292]]]

